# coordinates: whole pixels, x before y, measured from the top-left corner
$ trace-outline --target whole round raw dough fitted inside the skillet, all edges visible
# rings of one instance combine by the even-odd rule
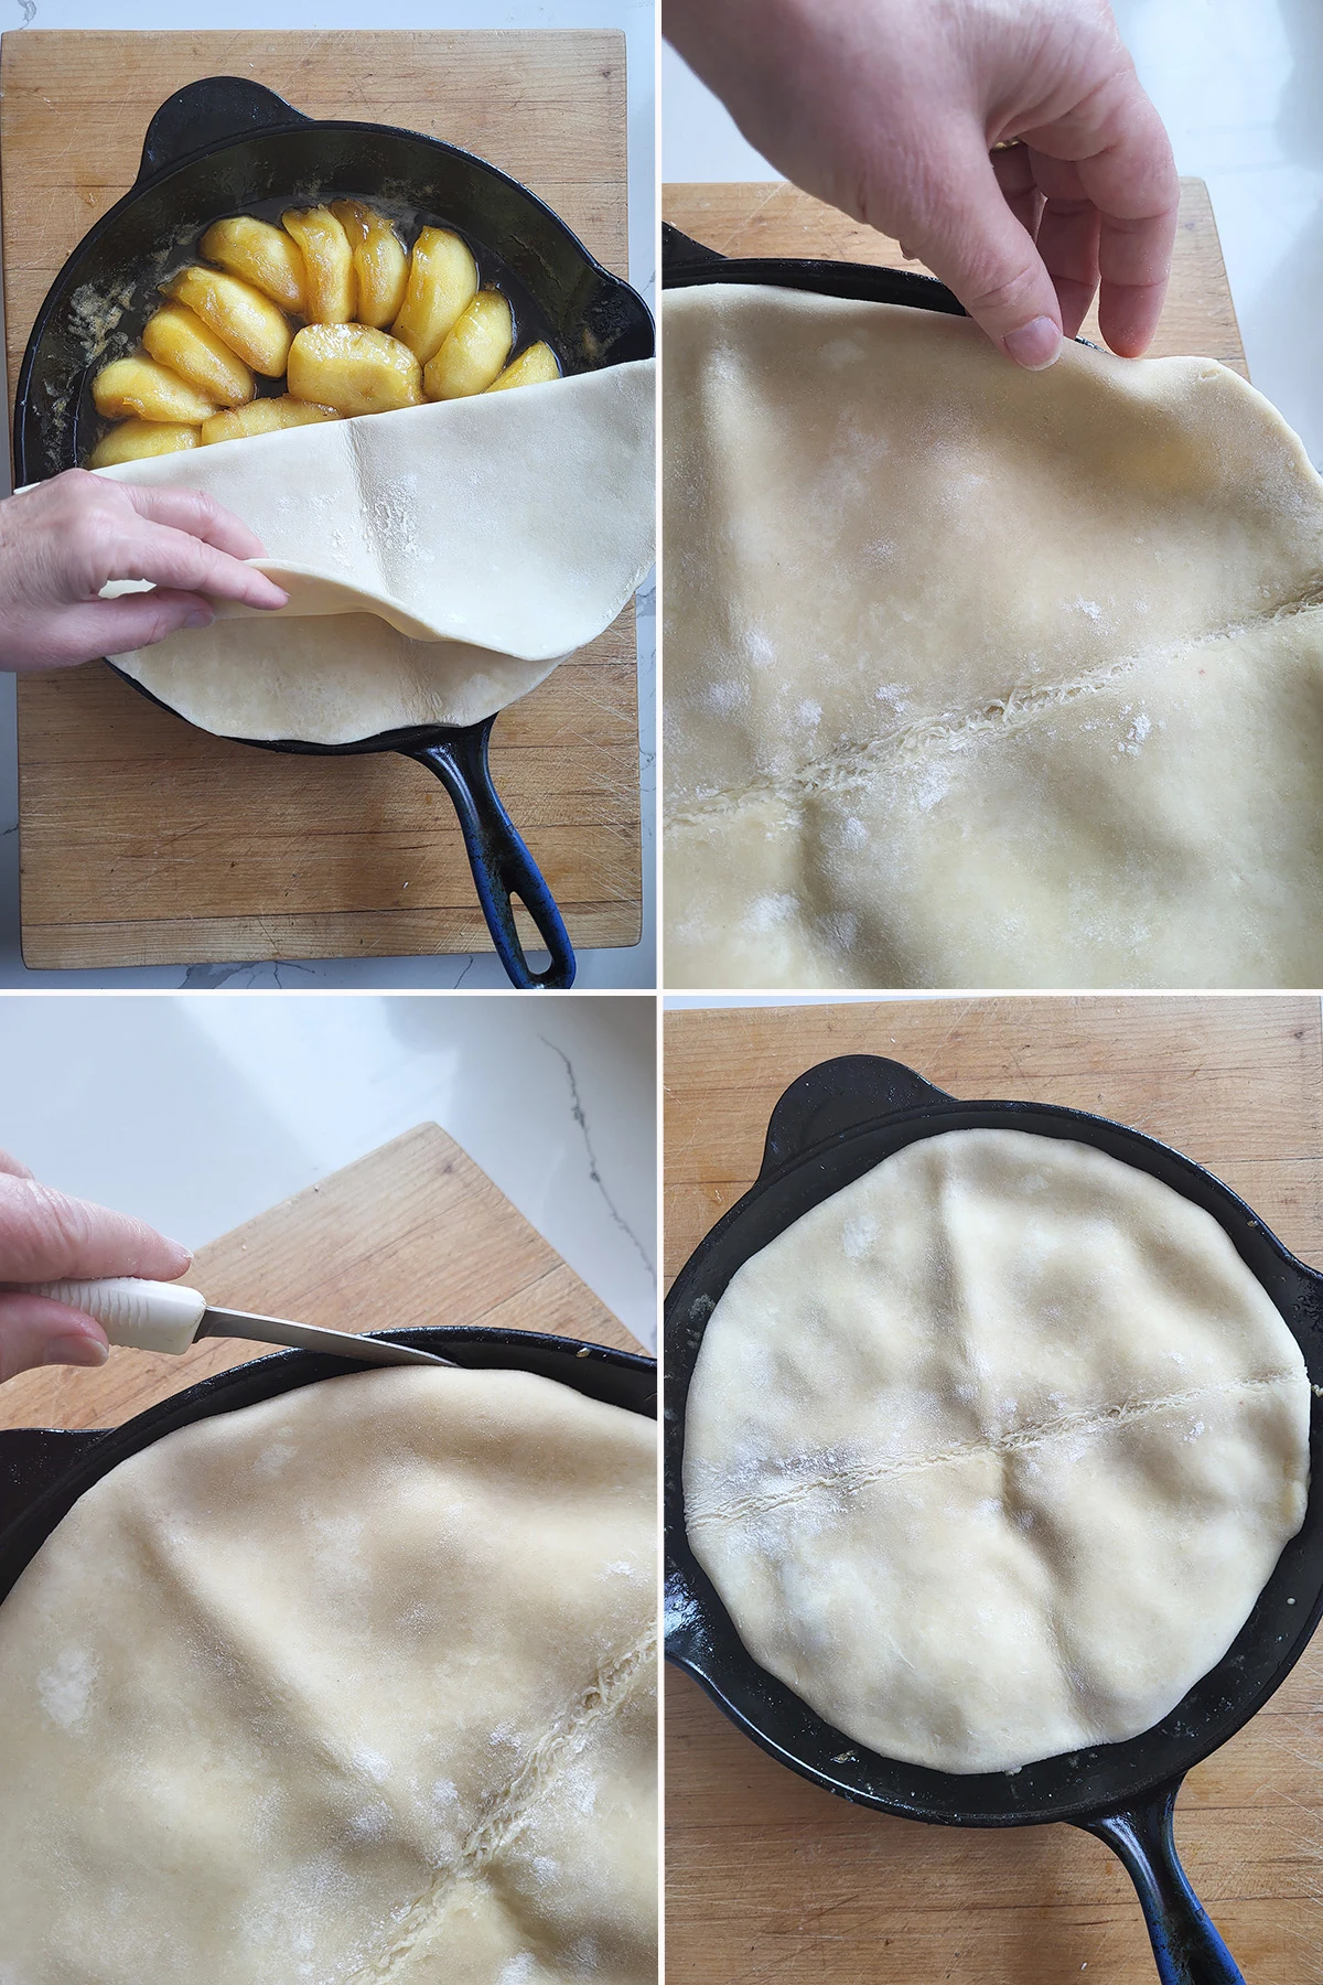
[[[1307,1487],[1303,1358],[1222,1227],[1023,1131],[926,1137],[778,1235],[688,1395],[688,1538],[754,1659],[952,1773],[1158,1723]]]

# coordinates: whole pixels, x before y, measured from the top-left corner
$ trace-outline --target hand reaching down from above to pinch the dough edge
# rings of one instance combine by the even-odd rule
[[[1107,343],[1146,349],[1176,167],[1107,0],[666,0],[664,22],[778,171],[895,234],[1016,363],[1051,365],[1099,284]]]

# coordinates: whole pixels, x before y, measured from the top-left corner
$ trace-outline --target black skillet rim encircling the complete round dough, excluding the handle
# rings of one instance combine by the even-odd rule
[[[764,1171],[760,1171],[750,1191],[698,1243],[674,1278],[666,1298],[666,1435],[662,1467],[668,1616],[670,1604],[678,1602],[680,1608],[666,1636],[666,1657],[676,1667],[688,1671],[736,1727],[778,1759],[778,1763],[787,1765],[813,1785],[873,1810],[948,1826],[1023,1826],[1055,1820],[1091,1820],[1123,1806],[1133,1806],[1210,1757],[1263,1707],[1305,1652],[1323,1614],[1323,1570],[1315,1570],[1303,1580],[1293,1578],[1297,1568],[1305,1570],[1311,1548],[1315,1556],[1319,1554],[1315,1532],[1323,1530],[1323,1401],[1317,1391],[1311,1403],[1311,1487],[1305,1522],[1297,1536],[1285,1544],[1246,1626],[1222,1661],[1188,1691],[1168,1717],[1125,1745],[1099,1745],[1069,1757],[1045,1759],[1039,1765],[1023,1767],[1020,1773],[958,1777],[902,1765],[867,1751],[841,1731],[833,1731],[791,1689],[760,1669],[738,1640],[720,1598],[688,1550],[680,1481],[684,1405],[706,1318],[730,1274],[734,1274],[742,1260],[766,1247],[774,1233],[791,1225],[793,1219],[831,1197],[831,1193],[851,1183],[851,1179],[873,1169],[881,1157],[922,1137],[938,1135],[944,1129],[966,1127],[1020,1127],[1045,1135],[1071,1137],[1095,1149],[1105,1149],[1109,1155],[1121,1157],[1123,1163],[1135,1163],[1162,1183],[1172,1185],[1172,1189],[1182,1191],[1186,1199],[1202,1205],[1204,1211],[1218,1219],[1238,1255],[1246,1260],[1246,1266],[1256,1274],[1281,1312],[1287,1328],[1301,1344],[1309,1378],[1315,1386],[1323,1384],[1323,1276],[1297,1260],[1254,1209],[1216,1179],[1214,1173],[1143,1131],[1117,1124],[1111,1118],[1055,1104],[962,1102],[932,1088],[902,1064],[881,1056],[853,1056],[849,1060],[873,1062],[879,1070],[889,1070],[904,1080],[910,1096],[922,1094],[924,1100],[908,1108],[875,1110],[849,1129],[813,1141],[782,1161],[774,1161],[776,1153],[770,1137]],[[799,1076],[797,1082],[803,1084],[823,1070],[831,1070],[831,1062],[817,1064],[817,1068]],[[795,1086],[791,1084],[785,1096]],[[785,1096],[778,1102],[778,1110],[785,1102]],[[887,1149],[879,1149],[879,1143],[885,1143]],[[732,1237],[740,1227],[748,1229],[750,1219],[766,1215],[764,1201],[783,1193],[795,1181],[807,1185],[797,1203],[785,1207],[780,1219],[764,1219],[758,1239],[750,1239],[746,1233],[746,1245],[736,1243],[732,1247]],[[710,1260],[718,1251],[728,1253],[722,1257],[722,1266],[714,1274],[708,1274]],[[1291,1622],[1289,1640],[1287,1630],[1275,1636],[1277,1650],[1281,1642],[1287,1642],[1285,1654],[1277,1652],[1269,1663],[1260,1659],[1256,1663],[1260,1675],[1254,1687],[1248,1695],[1236,1697],[1236,1671],[1246,1663],[1250,1652],[1263,1644],[1263,1632],[1267,1630],[1271,1636],[1271,1628],[1265,1628],[1265,1608],[1271,1604],[1277,1612],[1285,1614],[1287,1598],[1291,1598],[1291,1604],[1295,1602],[1295,1594],[1289,1592],[1293,1582],[1305,1584],[1311,1600],[1301,1608],[1299,1622]],[[700,1640],[698,1648],[692,1646],[696,1640]],[[1271,1655],[1271,1640],[1267,1652]],[[785,1743],[780,1743],[756,1721],[754,1711],[732,1701],[726,1693],[730,1683],[724,1679],[730,1673],[738,1677],[738,1693],[746,1705],[752,1695],[754,1703],[762,1705],[782,1727],[789,1727],[795,1737],[803,1739],[801,1749],[811,1749],[819,1759],[829,1761],[833,1769],[823,1769],[823,1763],[809,1763],[807,1757],[787,1749]],[[1206,1727],[1198,1737],[1192,1737],[1188,1729],[1182,1731],[1184,1719],[1192,1713],[1206,1717]],[[1166,1745],[1174,1755],[1162,1755],[1158,1763],[1152,1755],[1156,1745]],[[1099,1765],[1103,1771],[1111,1767],[1115,1775],[1119,1759],[1133,1765],[1133,1773],[1125,1783],[1111,1785],[1101,1794],[1069,1796],[1065,1790],[1069,1779],[1099,1771]],[[885,1792],[877,1790],[879,1777],[889,1781]],[[1057,1781],[1057,1785],[1055,1788],[1043,1788],[1041,1781]],[[1002,1800],[1000,1806],[992,1802],[994,1792]],[[1018,1800],[1010,1806],[1006,1804],[1008,1792],[1018,1794]],[[974,1800],[974,1804],[968,1800]]]

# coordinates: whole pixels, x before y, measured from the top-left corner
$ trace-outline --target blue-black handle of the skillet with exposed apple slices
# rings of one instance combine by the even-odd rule
[[[555,897],[492,784],[488,740],[494,723],[496,717],[486,717],[480,725],[452,730],[440,744],[421,744],[415,750],[401,746],[401,754],[434,772],[454,800],[482,915],[510,985],[559,991],[575,979],[573,945]],[[524,957],[512,895],[520,897],[551,953],[545,973],[536,973]]]

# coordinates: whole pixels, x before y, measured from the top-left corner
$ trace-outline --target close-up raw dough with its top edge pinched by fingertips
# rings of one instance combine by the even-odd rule
[[[666,983],[1323,979],[1323,482],[1212,359],[666,296]]]

